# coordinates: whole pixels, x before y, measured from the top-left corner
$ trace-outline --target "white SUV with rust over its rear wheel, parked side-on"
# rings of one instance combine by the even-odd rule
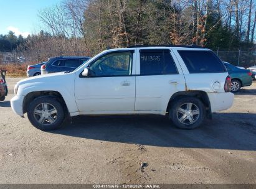
[[[41,130],[89,114],[161,114],[193,129],[234,101],[224,64],[195,45],[106,50],[72,72],[21,80],[14,92],[13,111]]]

